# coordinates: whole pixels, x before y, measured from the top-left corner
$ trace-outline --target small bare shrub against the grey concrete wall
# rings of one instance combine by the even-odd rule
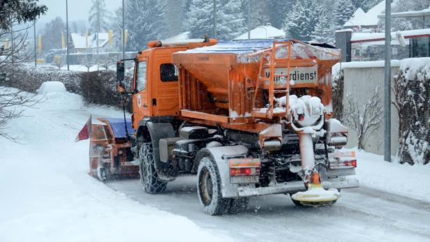
[[[369,102],[359,107],[355,98],[349,93],[346,96],[344,106],[344,121],[355,130],[358,138],[358,149],[364,149],[364,142],[371,135],[382,121],[382,108],[380,106],[379,86],[376,86]]]

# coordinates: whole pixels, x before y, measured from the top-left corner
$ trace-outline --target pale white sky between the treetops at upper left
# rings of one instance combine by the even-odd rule
[[[38,22],[46,23],[54,17],[61,17],[66,21],[66,0],[39,0],[40,4],[45,4],[47,13],[40,17]],[[122,5],[122,0],[105,0],[107,10],[115,10]],[[88,21],[88,12],[91,7],[91,0],[68,0],[68,20]]]

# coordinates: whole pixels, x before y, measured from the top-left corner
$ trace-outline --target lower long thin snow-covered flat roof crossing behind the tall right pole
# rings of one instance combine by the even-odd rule
[[[430,29],[413,29],[399,31],[404,38],[417,38],[430,36]],[[396,39],[396,32],[391,33],[391,37]],[[385,33],[353,33],[352,43],[371,42],[385,40]]]

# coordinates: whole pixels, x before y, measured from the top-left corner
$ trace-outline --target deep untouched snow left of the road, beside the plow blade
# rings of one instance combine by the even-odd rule
[[[8,124],[22,144],[0,137],[0,241],[231,241],[89,176],[89,144],[73,140],[89,114],[120,117],[121,112],[84,109],[68,92],[45,97]],[[54,112],[47,109],[52,105]],[[80,109],[71,110],[75,107]]]

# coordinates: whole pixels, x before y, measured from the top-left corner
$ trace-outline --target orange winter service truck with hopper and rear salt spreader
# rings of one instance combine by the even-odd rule
[[[298,40],[151,41],[132,60],[133,84],[124,84],[127,60],[117,63],[117,89],[133,98],[132,152],[122,155],[133,158],[122,160],[138,166],[148,193],[197,174],[211,215],[240,211],[258,195],[334,204],[341,189],[358,186],[355,153],[339,151],[348,128],[332,119],[339,59],[331,45]],[[112,164],[96,169],[115,172]]]

